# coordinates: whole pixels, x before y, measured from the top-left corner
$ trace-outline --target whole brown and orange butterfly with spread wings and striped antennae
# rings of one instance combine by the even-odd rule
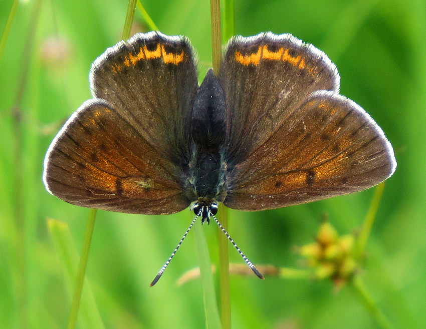
[[[93,98],[53,140],[43,180],[83,207],[172,214],[191,205],[183,238],[197,217],[213,217],[234,243],[216,219],[220,202],[275,209],[393,174],[383,131],[339,87],[329,58],[290,34],[233,37],[219,75],[208,70],[200,85],[187,38],[136,34],[93,63]]]

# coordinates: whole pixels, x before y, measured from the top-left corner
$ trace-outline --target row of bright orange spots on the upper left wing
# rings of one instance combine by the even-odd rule
[[[148,48],[144,46],[143,48],[140,47],[139,52],[136,54],[129,53],[128,57],[126,56],[124,58],[124,62],[122,66],[119,66],[114,63],[111,69],[114,73],[117,73],[121,71],[122,67],[124,66],[130,67],[131,65],[135,66],[136,63],[139,62],[140,60],[145,60],[145,59],[150,60],[150,59],[155,59],[160,57],[163,58],[163,61],[165,64],[178,65],[179,63],[183,62],[184,55],[185,53],[183,50],[180,54],[168,53],[166,52],[164,46],[160,44],[157,44],[157,48],[154,50],[148,50]]]

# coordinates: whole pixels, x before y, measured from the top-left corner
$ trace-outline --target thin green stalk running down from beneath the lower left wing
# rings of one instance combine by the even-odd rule
[[[97,209],[89,209],[87,218],[86,231],[84,232],[83,249],[81,251],[80,263],[76,278],[73,300],[71,303],[70,318],[68,321],[68,329],[74,329],[77,323],[78,310],[80,307],[81,292],[83,290],[84,277],[86,275],[87,262],[89,260],[90,245],[92,242],[93,230],[95,228]]]

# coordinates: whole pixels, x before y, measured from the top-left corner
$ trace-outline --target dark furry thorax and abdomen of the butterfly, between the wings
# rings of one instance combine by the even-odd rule
[[[225,180],[226,107],[223,90],[209,70],[198,89],[191,120],[192,154],[189,182],[195,200],[208,206],[221,202]]]

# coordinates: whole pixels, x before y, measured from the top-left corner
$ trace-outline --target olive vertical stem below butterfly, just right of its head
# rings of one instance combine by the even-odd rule
[[[219,205],[218,219],[222,226],[228,230],[228,208],[221,203]],[[229,241],[222,229],[218,226],[219,243],[219,278],[221,298],[222,329],[231,329],[231,293],[229,283]]]

